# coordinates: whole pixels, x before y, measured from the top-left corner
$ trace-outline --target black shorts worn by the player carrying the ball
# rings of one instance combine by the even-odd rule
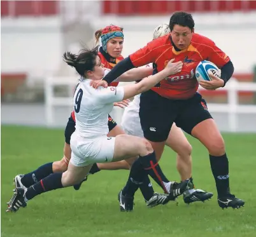
[[[139,118],[144,137],[152,142],[167,139],[173,122],[191,134],[201,121],[212,118],[199,93],[187,100],[170,100],[149,90],[141,94]]]

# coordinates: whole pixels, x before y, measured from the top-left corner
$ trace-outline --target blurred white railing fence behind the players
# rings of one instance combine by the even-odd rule
[[[73,105],[73,90],[77,84],[77,78],[46,78],[45,80],[45,113],[46,125],[53,126],[53,111],[54,106],[70,106]],[[69,88],[67,97],[54,97],[53,88],[57,85],[66,85]],[[199,91],[205,90],[200,87]],[[256,92],[256,83],[242,83],[235,78],[231,78],[229,83],[224,88],[218,90],[227,91],[227,104],[208,103],[210,112],[221,112],[228,114],[229,132],[236,132],[238,128],[238,114],[256,114],[256,105],[239,105],[239,91],[254,91]],[[117,111],[117,116],[122,116],[122,112]],[[120,120],[115,117],[115,120]],[[255,121],[256,123],[256,121]]]

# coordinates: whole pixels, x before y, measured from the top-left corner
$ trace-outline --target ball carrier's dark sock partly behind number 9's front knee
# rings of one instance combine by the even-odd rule
[[[138,190],[139,186],[143,184],[146,173],[143,170],[143,166],[139,159],[136,159],[131,166],[129,178],[127,183],[122,189],[122,194],[124,196],[134,196],[134,193]]]

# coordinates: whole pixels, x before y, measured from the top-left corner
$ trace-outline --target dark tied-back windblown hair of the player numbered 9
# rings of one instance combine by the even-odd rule
[[[96,46],[91,50],[88,48],[83,48],[79,51],[78,55],[67,51],[63,55],[63,60],[69,66],[75,67],[78,74],[80,74],[81,76],[85,76],[85,72],[93,71],[94,66],[96,65],[98,48],[99,46]]]

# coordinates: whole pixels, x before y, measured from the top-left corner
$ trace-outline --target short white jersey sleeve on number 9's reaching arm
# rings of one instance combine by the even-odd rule
[[[97,100],[101,104],[119,102],[124,98],[124,87],[122,86],[108,86],[108,88],[101,86],[97,90]]]

